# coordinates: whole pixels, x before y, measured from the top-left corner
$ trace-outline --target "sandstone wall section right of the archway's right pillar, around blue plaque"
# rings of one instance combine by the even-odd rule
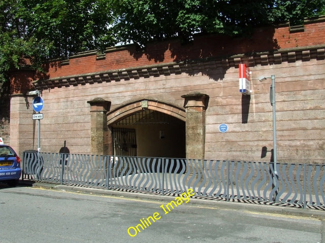
[[[271,80],[260,83],[258,76],[275,74],[278,160],[324,163],[325,73],[317,73],[324,68],[324,60],[312,62],[312,65],[295,62],[251,68],[253,93],[247,123],[243,123],[242,111],[248,108],[237,92],[237,80],[231,78],[238,70],[229,70],[219,86],[206,91],[210,95],[206,156],[212,158],[217,154],[224,159],[254,157],[261,160],[262,147],[272,149]],[[229,125],[229,132],[218,132],[218,125],[222,123]],[[270,160],[270,155],[268,153],[262,160]]]

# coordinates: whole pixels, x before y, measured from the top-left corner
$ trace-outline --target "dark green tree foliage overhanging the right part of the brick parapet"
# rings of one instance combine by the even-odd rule
[[[144,46],[148,41],[197,32],[247,34],[255,26],[324,13],[324,0],[112,0],[120,42]]]

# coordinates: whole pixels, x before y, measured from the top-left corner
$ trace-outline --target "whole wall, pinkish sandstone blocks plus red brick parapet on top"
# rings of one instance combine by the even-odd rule
[[[161,62],[227,56],[246,52],[266,52],[280,48],[324,45],[325,22],[305,25],[304,32],[290,33],[289,28],[256,30],[252,39],[228,39],[215,35],[198,36],[193,44],[180,45],[176,40],[151,44],[146,53],[136,52],[133,46],[108,49],[106,59],[96,60],[94,53],[70,58],[69,65],[53,66],[49,77],[71,76],[80,73],[99,72],[154,65]],[[196,45],[199,44],[199,45]],[[249,55],[248,55],[249,56]],[[58,152],[67,141],[72,153],[90,152],[90,107],[87,103],[96,97],[111,101],[111,110],[140,99],[157,99],[183,107],[182,95],[199,91],[209,95],[206,111],[206,158],[270,160],[261,158],[262,147],[272,148],[272,106],[269,102],[271,80],[258,82],[259,75],[276,77],[278,160],[302,163],[324,163],[325,143],[325,60],[283,61],[254,64],[252,70],[252,95],[248,105],[239,93],[238,68],[214,67],[198,69],[195,74],[181,73],[150,76],[139,79],[121,79],[119,82],[103,82],[53,88],[43,91],[44,119],[41,121],[42,151]],[[21,128],[24,145],[36,148],[35,125],[30,125],[30,112],[22,97],[13,97],[11,124]],[[14,101],[14,102],[13,102]],[[15,108],[17,107],[17,108]],[[243,117],[243,110],[248,110]],[[21,117],[21,118],[20,118]],[[28,120],[27,120],[28,119]],[[244,120],[244,122],[243,122]],[[229,132],[221,134],[218,126],[229,125]],[[22,126],[23,125],[23,126]],[[13,126],[13,128],[16,128]],[[15,140],[14,140],[15,139]],[[18,145],[17,145],[18,146]],[[31,148],[31,147],[30,147]]]

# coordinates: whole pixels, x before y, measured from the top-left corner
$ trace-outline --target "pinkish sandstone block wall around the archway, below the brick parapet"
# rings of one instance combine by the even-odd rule
[[[264,146],[273,147],[271,80],[261,83],[258,76],[274,74],[278,160],[324,163],[324,60],[251,67],[253,93],[248,105],[239,93],[238,68],[231,67],[225,74],[219,69],[208,74],[159,75],[45,90],[42,151],[57,152],[67,141],[71,152],[90,152],[90,107],[86,101],[95,97],[111,101],[111,110],[149,98],[183,107],[181,96],[199,91],[209,95],[205,157],[269,161],[271,153],[261,158],[261,151]],[[225,134],[218,131],[222,123],[229,126]]]

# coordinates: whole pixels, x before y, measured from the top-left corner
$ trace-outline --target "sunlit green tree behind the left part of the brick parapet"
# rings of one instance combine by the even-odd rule
[[[49,58],[69,57],[76,52],[115,44],[110,30],[109,1],[18,1],[21,3],[19,18],[27,22],[26,32],[46,40]]]

